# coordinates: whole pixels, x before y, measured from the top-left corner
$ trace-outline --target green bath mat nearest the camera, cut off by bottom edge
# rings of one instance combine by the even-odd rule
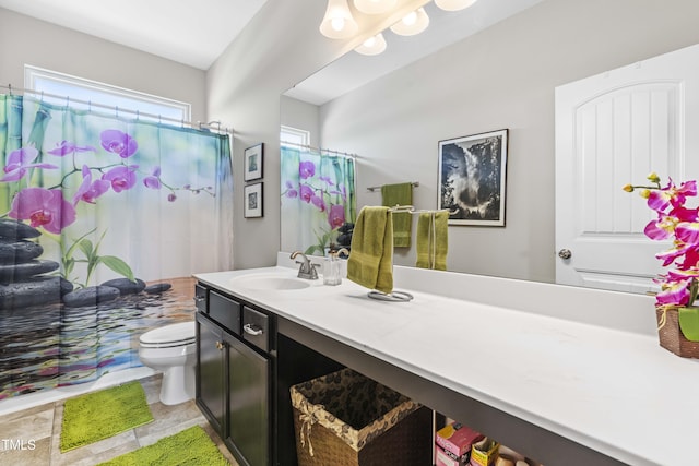
[[[190,427],[156,443],[126,455],[117,456],[99,466],[228,466],[204,429]]]

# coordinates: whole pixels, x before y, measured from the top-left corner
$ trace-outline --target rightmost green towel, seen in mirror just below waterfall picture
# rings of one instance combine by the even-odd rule
[[[429,212],[417,218],[417,267],[447,270],[449,212]]]

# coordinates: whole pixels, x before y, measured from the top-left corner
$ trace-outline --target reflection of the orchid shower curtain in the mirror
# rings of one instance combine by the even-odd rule
[[[356,215],[354,159],[281,148],[282,251],[324,255]]]

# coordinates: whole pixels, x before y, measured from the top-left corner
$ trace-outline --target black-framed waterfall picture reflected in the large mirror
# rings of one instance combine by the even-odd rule
[[[439,210],[449,225],[505,226],[508,130],[439,141]]]

